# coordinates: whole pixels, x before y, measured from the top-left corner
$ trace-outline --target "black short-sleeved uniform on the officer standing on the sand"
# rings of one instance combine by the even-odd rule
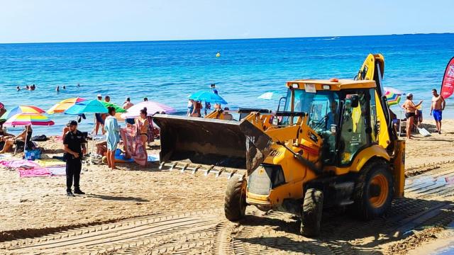
[[[63,145],[67,145],[68,149],[79,153],[79,157],[65,153],[66,159],[66,191],[71,191],[72,179],[74,178],[74,191],[80,191],[79,180],[80,171],[82,170],[82,144],[87,143],[82,132],[76,130],[76,133],[67,132]]]

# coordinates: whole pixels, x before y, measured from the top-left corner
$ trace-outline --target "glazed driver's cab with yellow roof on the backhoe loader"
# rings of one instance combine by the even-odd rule
[[[377,143],[374,81],[297,80],[287,87],[287,114],[281,114],[287,116],[279,126],[296,125],[297,115],[306,113],[305,124],[323,139],[323,165],[347,166],[361,149]]]

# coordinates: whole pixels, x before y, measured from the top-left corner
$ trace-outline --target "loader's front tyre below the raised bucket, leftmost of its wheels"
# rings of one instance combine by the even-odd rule
[[[232,178],[228,181],[224,196],[224,214],[227,220],[238,221],[246,211],[246,181]]]

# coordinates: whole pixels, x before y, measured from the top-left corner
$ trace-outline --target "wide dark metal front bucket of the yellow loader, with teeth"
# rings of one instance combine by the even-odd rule
[[[153,116],[160,127],[160,161],[189,159],[248,172],[259,166],[272,140],[248,120],[216,120],[177,115]]]

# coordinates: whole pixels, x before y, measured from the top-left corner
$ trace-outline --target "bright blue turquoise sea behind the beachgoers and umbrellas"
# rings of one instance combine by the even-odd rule
[[[221,57],[216,57],[220,52]],[[0,44],[0,102],[6,108],[33,105],[45,110],[65,98],[109,95],[114,103],[147,96],[185,113],[187,96],[215,83],[228,106],[275,108],[257,99],[282,91],[301,78],[353,78],[370,52],[385,57],[384,84],[424,100],[427,121],[431,89],[439,89],[454,55],[454,34],[380,35],[333,38],[192,40],[159,42],[77,42]],[[35,91],[16,86],[35,84]],[[80,84],[80,87],[77,87]],[[66,90],[55,92],[65,85]],[[448,100],[445,118],[454,118]],[[71,118],[50,115],[56,125],[35,128],[60,134]],[[79,127],[92,128],[92,118]]]

